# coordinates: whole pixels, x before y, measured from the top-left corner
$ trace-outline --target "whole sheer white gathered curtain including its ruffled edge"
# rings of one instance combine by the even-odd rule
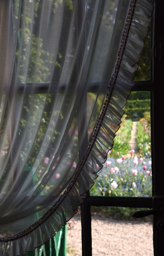
[[[41,246],[106,161],[148,32],[148,0],[1,0],[0,255]]]

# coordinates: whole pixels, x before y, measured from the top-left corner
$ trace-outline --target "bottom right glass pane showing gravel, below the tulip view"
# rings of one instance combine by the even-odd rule
[[[152,219],[127,217],[135,211],[122,207],[91,208],[93,256],[154,255]]]

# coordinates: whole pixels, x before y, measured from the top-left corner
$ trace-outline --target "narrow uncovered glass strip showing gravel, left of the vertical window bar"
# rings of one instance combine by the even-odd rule
[[[67,224],[67,256],[81,255],[81,214],[78,210],[77,214]]]

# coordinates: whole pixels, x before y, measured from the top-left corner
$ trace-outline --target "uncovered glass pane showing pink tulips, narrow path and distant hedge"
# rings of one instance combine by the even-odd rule
[[[150,92],[132,92],[92,196],[152,196]]]

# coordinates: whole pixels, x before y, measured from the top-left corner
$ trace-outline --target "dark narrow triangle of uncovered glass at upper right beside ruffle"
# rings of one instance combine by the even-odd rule
[[[151,26],[148,36],[145,39],[142,56],[138,63],[138,70],[135,72],[135,81],[148,81],[151,79]]]

